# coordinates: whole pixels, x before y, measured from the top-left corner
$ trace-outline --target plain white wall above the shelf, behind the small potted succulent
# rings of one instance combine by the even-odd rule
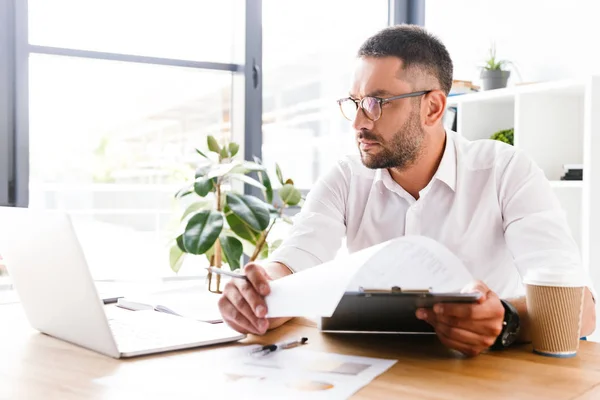
[[[600,73],[596,0],[426,0],[425,27],[448,47],[454,78],[479,82],[492,41],[513,61],[509,85]]]

